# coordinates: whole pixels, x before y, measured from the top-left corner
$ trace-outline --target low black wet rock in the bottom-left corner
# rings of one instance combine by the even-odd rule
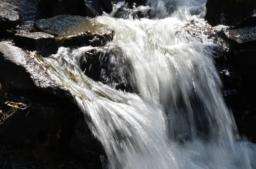
[[[0,165],[2,169],[49,169],[47,163],[37,157],[17,153],[1,153]]]

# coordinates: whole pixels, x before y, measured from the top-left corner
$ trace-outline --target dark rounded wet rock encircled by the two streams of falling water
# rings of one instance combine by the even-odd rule
[[[81,70],[95,81],[117,90],[133,92],[129,81],[129,68],[119,47],[93,48],[81,58]]]

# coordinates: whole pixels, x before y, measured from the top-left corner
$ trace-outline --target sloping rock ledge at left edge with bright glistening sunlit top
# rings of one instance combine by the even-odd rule
[[[48,94],[59,99],[73,100],[56,71],[38,54],[0,42],[0,79],[13,88],[28,93]]]

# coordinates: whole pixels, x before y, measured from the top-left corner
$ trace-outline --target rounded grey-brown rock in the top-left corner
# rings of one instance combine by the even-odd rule
[[[23,20],[17,8],[0,0],[0,30],[23,25]]]

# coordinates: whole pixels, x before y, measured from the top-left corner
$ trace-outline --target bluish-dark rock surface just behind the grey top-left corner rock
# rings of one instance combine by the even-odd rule
[[[24,21],[35,20],[40,17],[37,0],[3,0],[19,9]]]

